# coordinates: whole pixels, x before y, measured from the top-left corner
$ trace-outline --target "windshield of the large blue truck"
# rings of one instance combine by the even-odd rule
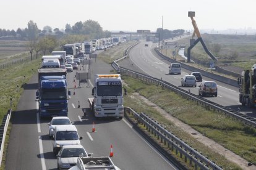
[[[41,99],[42,100],[64,100],[67,99],[66,88],[42,88],[41,89]]]

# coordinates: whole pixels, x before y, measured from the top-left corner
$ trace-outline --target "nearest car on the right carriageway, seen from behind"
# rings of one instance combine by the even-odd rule
[[[198,95],[218,95],[218,87],[215,81],[203,81],[199,86]]]

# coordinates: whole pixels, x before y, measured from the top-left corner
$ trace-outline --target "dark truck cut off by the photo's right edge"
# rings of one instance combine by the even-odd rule
[[[242,71],[237,78],[239,102],[247,107],[256,107],[256,70]]]

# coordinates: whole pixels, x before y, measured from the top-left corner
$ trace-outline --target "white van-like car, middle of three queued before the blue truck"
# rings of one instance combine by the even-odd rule
[[[79,137],[77,127],[69,124],[56,126],[53,139],[53,153],[57,155],[64,145],[80,145],[83,137]]]

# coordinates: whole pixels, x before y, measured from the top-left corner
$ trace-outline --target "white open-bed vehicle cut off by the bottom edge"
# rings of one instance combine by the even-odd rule
[[[76,166],[70,170],[87,170],[87,169],[104,169],[104,170],[121,170],[114,165],[111,158],[105,157],[79,157]]]

